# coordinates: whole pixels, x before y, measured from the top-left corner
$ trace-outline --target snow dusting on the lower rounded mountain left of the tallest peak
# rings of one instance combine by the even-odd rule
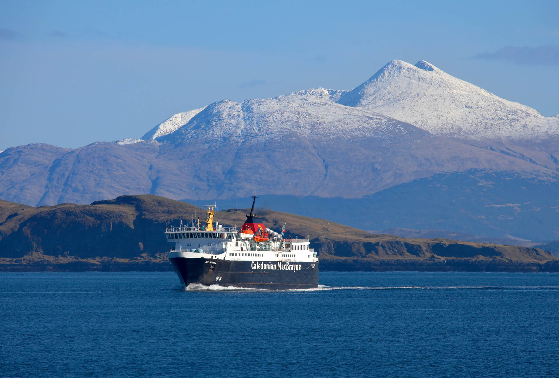
[[[221,143],[222,140],[285,138],[295,133],[305,138],[312,136],[327,140],[352,140],[375,135],[377,140],[386,141],[427,134],[390,117],[340,105],[329,100],[327,89],[321,89],[243,102],[215,102],[163,139],[177,142],[203,138]]]

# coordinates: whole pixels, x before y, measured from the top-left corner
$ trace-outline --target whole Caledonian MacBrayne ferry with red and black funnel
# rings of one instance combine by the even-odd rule
[[[266,290],[318,287],[318,257],[309,239],[285,239],[259,223],[252,208],[240,229],[214,223],[215,205],[205,205],[205,223],[165,226],[167,254],[181,284]]]

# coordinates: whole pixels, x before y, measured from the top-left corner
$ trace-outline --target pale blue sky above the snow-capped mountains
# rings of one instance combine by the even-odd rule
[[[181,111],[350,89],[420,59],[559,113],[559,2],[6,1],[0,150],[139,138]]]

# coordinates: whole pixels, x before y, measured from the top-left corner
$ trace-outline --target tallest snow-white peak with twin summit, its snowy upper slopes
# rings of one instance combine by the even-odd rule
[[[559,119],[504,100],[420,60],[392,60],[339,103],[409,122],[435,135],[468,139],[559,135]]]

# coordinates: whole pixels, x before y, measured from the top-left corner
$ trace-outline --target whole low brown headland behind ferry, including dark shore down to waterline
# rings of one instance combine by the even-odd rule
[[[216,212],[240,225],[246,209]],[[154,195],[91,205],[32,207],[0,200],[0,271],[170,271],[165,224],[191,223],[201,207]],[[331,221],[260,209],[271,228],[309,237],[322,271],[559,272],[539,248],[371,234]]]

